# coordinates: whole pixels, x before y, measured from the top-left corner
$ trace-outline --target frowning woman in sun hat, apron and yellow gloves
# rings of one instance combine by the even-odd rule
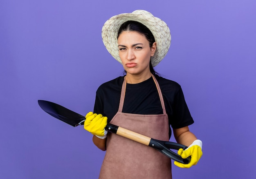
[[[94,144],[106,150],[99,178],[171,178],[171,159],[157,150],[130,139],[107,133],[107,122],[168,141],[171,128],[183,158],[191,155],[189,168],[202,156],[202,141],[189,131],[193,119],[179,84],[159,77],[153,69],[166,55],[170,30],[165,22],[151,13],[137,10],[110,18],[102,28],[103,43],[126,71],[102,84],[96,94],[94,113],[86,115],[85,130]]]

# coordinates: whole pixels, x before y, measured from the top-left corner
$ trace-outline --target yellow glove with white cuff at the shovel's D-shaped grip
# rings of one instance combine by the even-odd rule
[[[180,162],[174,161],[174,165],[180,168],[190,168],[191,166],[196,165],[203,155],[202,141],[197,139],[185,150],[180,148],[177,153],[183,159],[186,159],[187,157],[191,156],[191,161],[189,162],[189,164],[182,164]]]

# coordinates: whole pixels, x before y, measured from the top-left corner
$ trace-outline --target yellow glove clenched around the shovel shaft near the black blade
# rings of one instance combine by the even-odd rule
[[[105,130],[105,127],[107,125],[107,117],[103,117],[101,114],[96,114],[89,112],[85,116],[85,122],[83,124],[83,128],[93,135],[96,135],[97,137],[104,139],[107,137],[108,131]]]

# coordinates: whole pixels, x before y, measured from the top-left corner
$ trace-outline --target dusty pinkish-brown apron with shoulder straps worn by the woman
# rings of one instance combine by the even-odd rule
[[[157,86],[164,114],[139,115],[122,113],[126,91],[126,77],[124,77],[119,110],[110,123],[153,139],[168,141],[168,116],[164,106],[164,99],[154,76],[153,80]],[[99,179],[171,178],[170,158],[149,146],[108,133],[107,150]]]

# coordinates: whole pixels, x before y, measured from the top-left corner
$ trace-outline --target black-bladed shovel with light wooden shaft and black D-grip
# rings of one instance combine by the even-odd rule
[[[80,126],[83,125],[85,121],[85,117],[83,115],[80,115],[78,113],[75,113],[72,110],[69,110],[59,104],[44,101],[44,100],[38,100],[39,106],[49,115],[52,115],[53,117],[60,119],[61,121],[70,124],[71,126]],[[188,164],[191,160],[191,156],[189,156],[186,159],[183,159],[180,155],[176,154],[170,149],[179,150],[182,148],[185,150],[187,146],[184,146],[182,144],[177,144],[175,142],[170,141],[161,141],[157,139],[153,139],[150,137],[147,137],[145,135],[141,135],[139,133],[135,133],[131,130],[113,125],[113,124],[107,124],[106,130],[108,130],[111,133],[115,133],[117,135],[120,135],[122,137],[126,137],[128,139],[131,139],[133,141],[137,141],[141,144],[144,144],[146,146],[150,146],[162,154],[166,155],[167,157],[178,161],[182,164]]]

